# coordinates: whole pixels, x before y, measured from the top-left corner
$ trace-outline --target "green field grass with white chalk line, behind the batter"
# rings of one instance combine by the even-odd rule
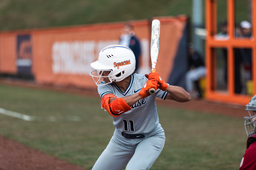
[[[185,106],[186,104],[184,104]],[[29,116],[26,122],[0,114],[0,134],[51,156],[90,169],[113,134],[112,117],[100,99],[0,84],[0,107]],[[238,169],[246,149],[243,120],[158,106],[166,145],[151,170]],[[79,122],[61,119],[79,116]]]

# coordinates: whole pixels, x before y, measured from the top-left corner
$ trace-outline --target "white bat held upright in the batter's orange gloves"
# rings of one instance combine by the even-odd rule
[[[159,53],[159,39],[160,39],[160,20],[152,21],[152,29],[151,29],[151,44],[150,44],[150,56],[151,56],[151,72],[155,72],[155,66],[158,59]],[[155,89],[151,88],[149,94],[154,94]]]

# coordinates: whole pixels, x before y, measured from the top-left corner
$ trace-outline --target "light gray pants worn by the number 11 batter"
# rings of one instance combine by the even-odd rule
[[[166,136],[160,124],[143,139],[125,139],[115,130],[92,170],[148,170],[163,150]]]

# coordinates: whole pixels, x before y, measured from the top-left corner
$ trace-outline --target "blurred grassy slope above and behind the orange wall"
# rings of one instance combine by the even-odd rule
[[[178,14],[187,14],[191,17],[192,2],[192,0],[2,0],[0,30],[143,20]],[[217,2],[218,22],[222,22],[227,16],[226,0]],[[202,0],[202,3],[204,11],[205,0]],[[204,17],[205,14],[203,20]],[[241,20],[247,20],[247,3],[236,0],[236,21]]]

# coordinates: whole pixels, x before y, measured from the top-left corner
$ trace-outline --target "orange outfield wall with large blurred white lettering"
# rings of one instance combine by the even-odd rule
[[[187,18],[159,17],[160,53],[156,71],[167,80],[172,61],[183,35]],[[90,77],[90,63],[105,46],[119,42],[125,22],[70,26],[30,31],[0,32],[0,72],[15,73],[16,36],[26,32],[32,36],[32,74],[38,83],[96,88]],[[131,24],[141,40],[143,54],[141,73],[150,71],[150,28],[148,20],[133,20]]]

